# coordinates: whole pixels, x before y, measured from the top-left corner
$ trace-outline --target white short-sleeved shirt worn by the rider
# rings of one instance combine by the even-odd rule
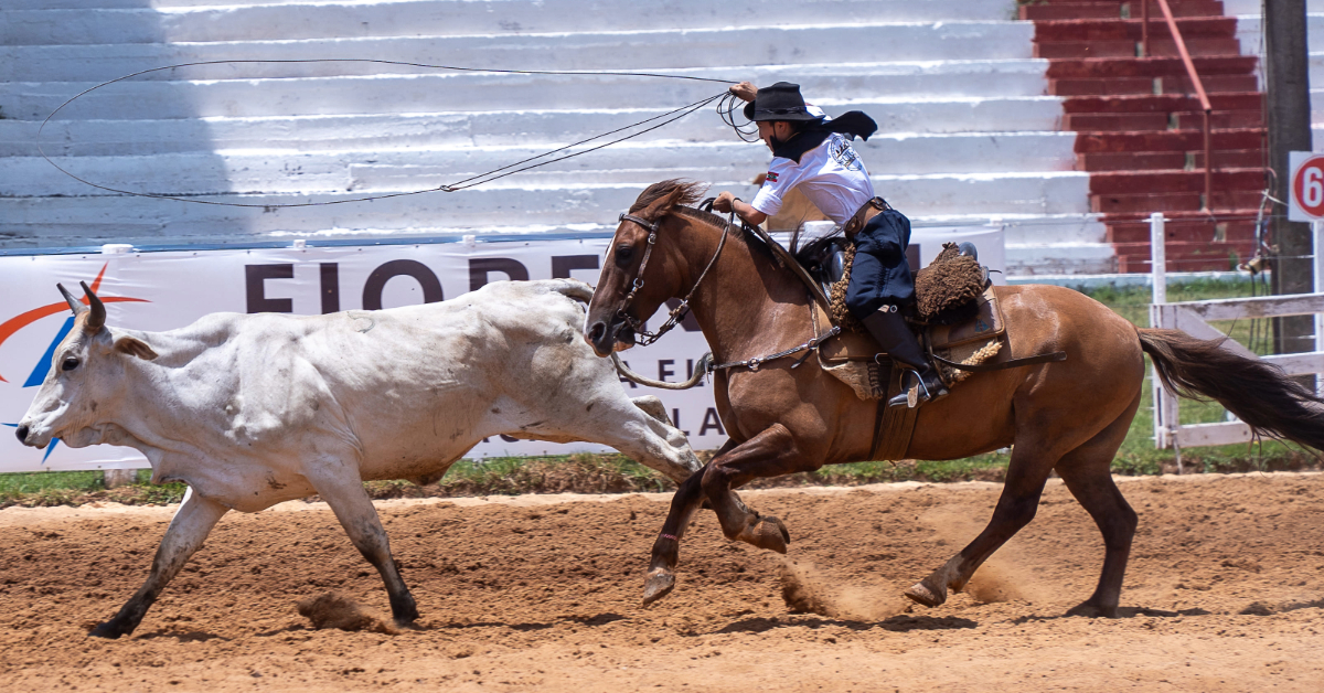
[[[821,144],[806,151],[800,163],[773,156],[768,178],[749,204],[773,216],[781,209],[786,192],[797,187],[837,224],[850,221],[874,197],[874,183],[869,180],[863,159],[855,154],[850,140],[838,133],[828,135]]]

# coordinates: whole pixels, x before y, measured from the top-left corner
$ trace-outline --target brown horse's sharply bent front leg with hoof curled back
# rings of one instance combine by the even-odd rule
[[[755,478],[812,472],[820,466],[805,458],[790,431],[781,424],[773,424],[757,436],[714,457],[703,469],[703,493],[718,513],[722,533],[728,539],[785,554],[786,545],[790,543],[786,526],[772,515],[760,515],[745,507],[731,489]]]

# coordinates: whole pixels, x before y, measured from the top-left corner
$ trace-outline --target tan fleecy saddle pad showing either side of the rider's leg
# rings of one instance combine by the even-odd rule
[[[947,360],[972,364],[986,363],[1002,348],[1006,339],[1006,321],[998,306],[993,286],[984,289],[976,299],[974,317],[955,325],[933,325],[924,327],[922,343],[929,354]],[[814,337],[828,331],[833,323],[828,311],[817,302],[813,306]],[[1008,350],[1009,351],[1009,350]],[[869,334],[842,330],[835,339],[828,339],[817,348],[818,366],[833,374],[855,391],[862,400],[876,400],[887,396],[890,363],[880,366],[874,356],[880,354],[878,342]],[[887,359],[883,359],[887,363]],[[948,387],[969,376],[949,366],[940,368]]]

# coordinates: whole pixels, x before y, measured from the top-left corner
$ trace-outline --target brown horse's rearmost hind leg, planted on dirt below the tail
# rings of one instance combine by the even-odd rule
[[[1111,466],[1139,405],[1140,395],[1136,395],[1135,404],[1124,415],[1088,443],[1063,456],[1057,466],[1071,496],[1075,496],[1099,526],[1104,545],[1099,586],[1090,599],[1068,611],[1072,615],[1108,617],[1117,615],[1121,578],[1127,572],[1137,518],[1136,511],[1127,505],[1127,500],[1112,481]]]

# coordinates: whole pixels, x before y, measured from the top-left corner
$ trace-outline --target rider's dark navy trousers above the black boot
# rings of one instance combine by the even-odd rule
[[[846,307],[858,319],[884,305],[915,302],[915,278],[906,262],[910,219],[896,209],[883,209],[855,233],[855,261],[846,288]]]

